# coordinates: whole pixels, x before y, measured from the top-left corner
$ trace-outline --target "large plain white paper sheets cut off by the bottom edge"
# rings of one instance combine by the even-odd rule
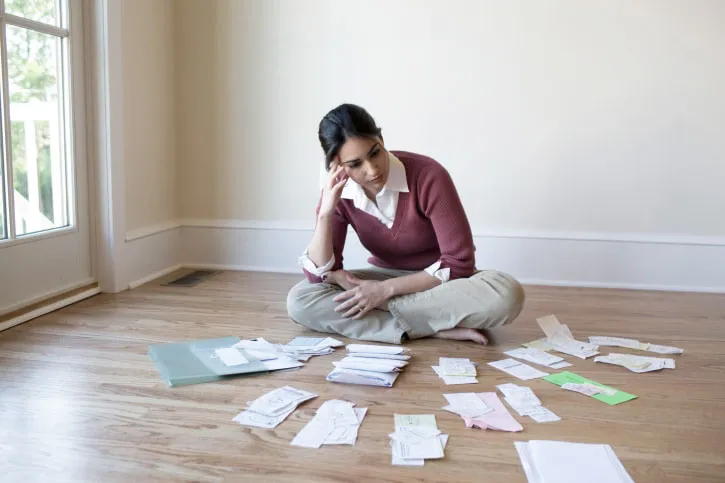
[[[516,441],[529,483],[634,483],[608,444]]]

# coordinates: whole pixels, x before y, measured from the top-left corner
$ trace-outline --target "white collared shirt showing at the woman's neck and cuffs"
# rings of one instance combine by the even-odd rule
[[[393,222],[395,221],[395,214],[398,211],[398,198],[400,193],[408,193],[408,179],[405,173],[405,165],[397,158],[393,153],[388,152],[390,166],[388,172],[388,179],[385,182],[385,186],[375,196],[377,202],[374,203],[365,194],[365,190],[362,186],[357,184],[350,178],[345,187],[342,189],[341,198],[349,199],[353,201],[355,208],[368,213],[383,223],[389,229],[392,228]],[[320,176],[320,183],[327,183],[329,173],[324,170]],[[322,184],[324,186],[324,184]],[[318,277],[324,278],[324,275],[329,272],[335,264],[335,255],[323,266],[317,267],[312,260],[309,259],[308,250],[302,254],[299,258],[300,266],[305,268],[308,272],[317,275]],[[425,268],[425,271],[433,275],[441,282],[447,282],[450,279],[450,268],[440,268],[440,260]]]

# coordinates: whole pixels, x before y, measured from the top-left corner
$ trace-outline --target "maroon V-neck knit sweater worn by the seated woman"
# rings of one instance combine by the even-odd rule
[[[469,277],[476,270],[473,235],[463,205],[448,171],[434,159],[405,151],[391,151],[405,166],[408,193],[400,193],[392,228],[341,199],[332,220],[335,264],[343,268],[342,251],[348,225],[372,255],[368,262],[383,268],[424,270],[440,260],[450,268],[450,280]],[[320,202],[317,205],[319,214]],[[303,269],[312,283],[322,279]]]

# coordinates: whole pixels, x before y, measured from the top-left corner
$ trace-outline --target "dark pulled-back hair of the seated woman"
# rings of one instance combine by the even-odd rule
[[[375,119],[362,107],[354,104],[337,106],[322,118],[317,132],[325,152],[325,169],[330,169],[330,163],[349,138],[374,138],[381,133]]]

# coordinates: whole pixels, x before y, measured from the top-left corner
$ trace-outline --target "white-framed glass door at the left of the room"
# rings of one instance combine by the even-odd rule
[[[83,40],[81,0],[0,0],[0,322],[94,282]]]

